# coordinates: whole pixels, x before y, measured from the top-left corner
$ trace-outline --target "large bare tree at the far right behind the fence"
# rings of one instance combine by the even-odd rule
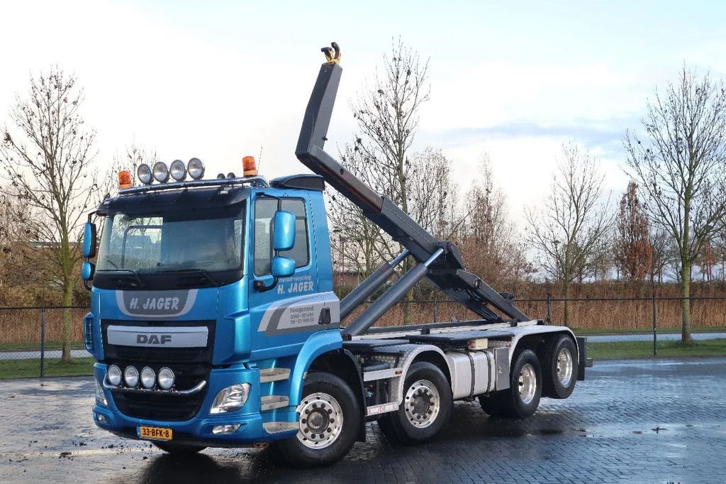
[[[677,246],[681,341],[692,344],[691,268],[726,217],[726,86],[684,67],[656,90],[642,122],[643,137],[625,136],[627,168],[647,195],[650,220]]]

